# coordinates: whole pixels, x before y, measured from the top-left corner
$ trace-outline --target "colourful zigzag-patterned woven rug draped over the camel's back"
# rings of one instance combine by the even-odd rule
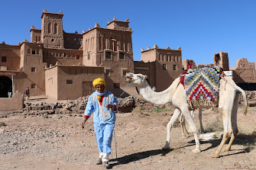
[[[190,69],[184,75],[184,88],[190,109],[214,107],[219,102],[219,80],[222,69]]]

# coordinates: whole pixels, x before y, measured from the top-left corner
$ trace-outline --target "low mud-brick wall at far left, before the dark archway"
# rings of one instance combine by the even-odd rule
[[[0,111],[21,110],[24,107],[23,94],[16,91],[11,98],[0,98]]]

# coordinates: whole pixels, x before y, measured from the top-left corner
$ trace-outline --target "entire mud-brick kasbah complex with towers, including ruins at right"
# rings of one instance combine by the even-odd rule
[[[193,59],[182,59],[180,47],[160,49],[157,45],[141,49],[141,61],[134,61],[128,19],[118,21],[114,17],[106,28],[96,23],[83,34],[63,30],[62,11],[44,9],[41,20],[41,29],[31,26],[30,42],[0,43],[0,98],[8,98],[10,87],[20,94],[29,87],[31,96],[72,100],[90,95],[94,91],[92,81],[99,77],[118,96],[126,88],[126,72],[147,75],[151,87],[162,91],[182,74],[188,61],[193,69],[213,65],[196,66]],[[256,82],[255,65],[247,59],[237,59],[236,66],[229,67],[228,53],[220,52],[213,55],[213,61],[232,71],[235,82]],[[128,88],[123,97],[136,94],[134,88]]]

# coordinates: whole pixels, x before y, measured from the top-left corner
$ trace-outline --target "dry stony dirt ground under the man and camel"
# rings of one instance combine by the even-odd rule
[[[203,126],[215,133],[215,140],[200,141],[202,152],[193,153],[193,135],[181,138],[179,123],[172,129],[170,150],[165,144],[166,126],[172,111],[117,113],[115,138],[112,140],[112,169],[256,169],[256,108],[247,116],[238,110],[239,133],[232,150],[212,153],[220,143],[222,117],[216,111],[203,111]],[[24,116],[1,112],[0,169],[105,169],[96,165],[98,149],[92,117],[86,128],[80,127],[82,115],[51,114]],[[198,114],[195,116],[199,127]],[[116,147],[115,149],[115,141]],[[117,159],[116,159],[117,153]]]

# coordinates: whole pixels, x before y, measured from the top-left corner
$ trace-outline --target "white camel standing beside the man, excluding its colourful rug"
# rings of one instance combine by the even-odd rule
[[[126,75],[126,82],[131,82],[137,88],[139,93],[144,97],[145,100],[150,101],[153,104],[167,104],[172,103],[176,107],[173,116],[170,119],[170,122],[167,124],[167,141],[163,149],[170,149],[170,131],[173,127],[173,123],[182,113],[186,118],[187,122],[190,125],[191,130],[193,130],[193,136],[196,141],[196,149],[193,149],[193,152],[201,152],[200,143],[196,133],[196,125],[193,122],[193,118],[189,111],[189,104],[186,101],[186,91],[182,84],[180,84],[180,77],[175,79],[173,83],[164,91],[155,92],[152,91],[150,85],[147,83],[147,75],[134,74],[128,72]],[[219,87],[219,111],[222,111],[222,119],[224,126],[224,134],[222,137],[222,142],[219,147],[215,150],[212,157],[219,157],[219,152],[222,150],[226,140],[231,136],[231,140],[228,143],[228,146],[225,148],[225,151],[231,149],[231,145],[235,139],[235,136],[238,134],[237,126],[237,111],[238,111],[238,91],[241,91],[241,94],[245,101],[245,112],[247,113],[247,101],[245,96],[245,91],[235,85],[235,82],[229,78],[220,80]]]

